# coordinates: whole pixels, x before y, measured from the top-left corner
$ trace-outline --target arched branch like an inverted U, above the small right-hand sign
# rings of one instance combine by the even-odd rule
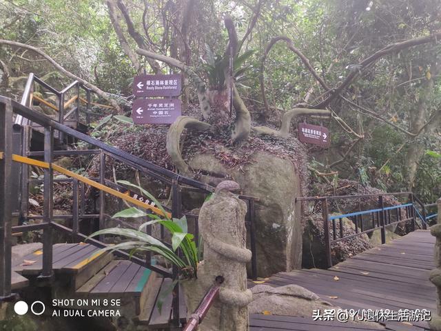
[[[292,52],[294,52],[294,53],[296,53],[298,55],[298,57],[300,58],[302,63],[309,70],[309,72],[311,72],[311,74],[314,76],[316,81],[318,81],[318,83],[320,83],[320,85],[323,88],[325,88],[325,90],[329,90],[327,84],[322,79],[322,77],[320,77],[318,75],[316,70],[311,66],[311,63],[309,63],[309,60],[307,59],[307,57],[305,57],[305,55],[302,52],[300,52],[300,50],[298,50],[296,47],[294,47],[294,43],[293,43],[293,41],[291,39],[289,39],[288,37],[285,37],[285,36],[274,37],[274,38],[272,38],[269,41],[267,47],[265,48],[265,52],[263,54],[263,57],[262,57],[262,59],[260,59],[260,77],[259,77],[259,80],[260,80],[260,93],[262,94],[263,106],[265,108],[265,117],[269,117],[269,114],[270,114],[270,110],[269,110],[269,106],[268,106],[268,101],[267,101],[267,97],[266,97],[266,94],[265,94],[265,81],[264,81],[265,61],[267,59],[269,51],[271,50],[271,48],[273,48],[273,46],[278,41],[285,41],[285,43],[287,43],[287,46],[288,46],[289,50],[291,50]],[[316,108],[324,108],[324,107],[316,107]]]

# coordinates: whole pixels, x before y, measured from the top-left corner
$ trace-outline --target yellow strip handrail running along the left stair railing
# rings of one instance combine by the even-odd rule
[[[109,188],[106,185],[103,185],[103,184],[98,183],[96,181],[92,181],[92,179],[88,179],[87,177],[81,176],[81,174],[76,174],[75,172],[72,172],[68,169],[60,167],[59,165],[56,165],[54,163],[38,161],[35,159],[30,159],[29,157],[22,157],[21,155],[17,155],[17,154],[12,154],[12,161],[16,161],[19,163],[25,163],[25,164],[29,164],[29,165],[35,165],[39,168],[45,168],[45,169],[52,168],[53,170],[60,172],[61,174],[65,174],[68,177],[78,179],[79,181],[82,181],[85,184],[93,186],[94,188],[97,188],[99,190],[102,190],[104,192],[112,194],[114,197],[119,197],[125,201],[133,203],[134,205],[138,205],[139,207],[150,209],[155,214],[158,214],[160,216],[165,216],[168,218],[172,217],[172,214],[170,214],[170,212],[165,212],[165,214],[164,214],[161,209],[156,208],[153,205],[149,205],[148,203],[141,202],[141,201],[134,199],[124,193],[121,193],[117,190],[114,190],[113,188]]]

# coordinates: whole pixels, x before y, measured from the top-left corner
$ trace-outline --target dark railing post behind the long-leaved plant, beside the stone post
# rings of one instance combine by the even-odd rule
[[[180,219],[182,215],[182,197],[181,187],[176,179],[172,181],[172,217]],[[178,249],[178,254],[181,255],[181,251]],[[173,265],[173,278],[176,280],[179,278],[179,270],[176,265]],[[181,327],[180,312],[179,312],[179,282],[173,289],[173,301],[172,301],[172,330],[178,330]]]

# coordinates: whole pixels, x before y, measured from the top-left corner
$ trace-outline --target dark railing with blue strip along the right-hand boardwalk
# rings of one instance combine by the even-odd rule
[[[401,197],[407,199],[407,203],[400,205],[384,205],[384,197]],[[338,200],[348,199],[378,199],[378,207],[370,210],[359,210],[346,214],[334,214],[331,210],[333,203]],[[380,230],[381,243],[386,243],[386,230],[388,226],[398,225],[400,223],[409,223],[411,231],[417,228],[427,229],[427,225],[436,214],[427,216],[428,208],[436,205],[435,203],[424,204],[412,192],[392,192],[382,194],[359,194],[331,197],[301,197],[296,201],[313,201],[320,204],[322,210],[323,232],[325,240],[325,261],[330,268],[332,261],[332,245],[339,241],[345,241],[353,237],[359,237],[362,234],[369,234]],[[420,207],[418,209],[417,205]],[[344,219],[352,221],[355,233],[346,233]],[[421,225],[417,219],[420,219]]]

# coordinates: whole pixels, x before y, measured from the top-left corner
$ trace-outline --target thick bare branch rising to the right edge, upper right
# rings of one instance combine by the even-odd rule
[[[329,97],[327,97],[327,99],[325,99],[324,101],[318,103],[316,106],[314,106],[314,108],[324,108],[328,106],[329,103],[331,103],[331,101],[333,101],[334,99],[336,99],[336,97],[338,97],[338,95],[340,95],[342,90],[344,90],[345,88],[347,88],[347,86],[349,86],[349,84],[353,81],[353,79],[355,79],[360,74],[360,72],[362,72],[363,69],[367,68],[367,66],[376,62],[378,59],[385,57],[386,55],[391,54],[393,52],[399,52],[400,50],[404,50],[406,48],[422,45],[424,43],[437,42],[438,39],[440,39],[440,37],[441,37],[441,31],[438,31],[438,32],[433,32],[432,34],[426,37],[408,39],[405,41],[400,41],[398,43],[391,43],[388,46],[385,46],[381,50],[378,50],[378,52],[375,52],[371,56],[367,57],[366,59],[358,63],[356,68],[360,68],[360,70],[352,70],[351,73],[347,75],[345,80],[337,88],[334,88],[333,90],[330,91],[331,94],[329,95]]]

